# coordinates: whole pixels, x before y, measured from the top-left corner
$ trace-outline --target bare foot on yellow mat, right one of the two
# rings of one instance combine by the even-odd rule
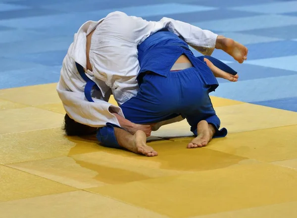
[[[193,139],[187,148],[201,148],[208,144],[215,132],[213,126],[208,124],[206,120],[201,120],[197,125],[198,136]]]

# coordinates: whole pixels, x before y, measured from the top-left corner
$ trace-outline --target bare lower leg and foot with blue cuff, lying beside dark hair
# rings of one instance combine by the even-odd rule
[[[158,153],[147,146],[147,136],[145,132],[138,130],[134,135],[126,130],[111,124],[99,128],[97,139],[105,147],[125,148],[129,151],[142,154],[148,157],[157,156]]]

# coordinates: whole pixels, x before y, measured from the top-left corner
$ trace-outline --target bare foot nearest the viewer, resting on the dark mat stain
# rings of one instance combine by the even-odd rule
[[[153,150],[153,148],[147,146],[147,136],[146,133],[138,130],[133,136],[133,141],[130,144],[131,146],[127,146],[126,148],[136,154],[142,154],[148,157],[157,156],[158,153]]]

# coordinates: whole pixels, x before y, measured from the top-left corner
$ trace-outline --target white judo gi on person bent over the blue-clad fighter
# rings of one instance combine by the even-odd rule
[[[137,46],[164,28],[204,55],[212,54],[215,48],[216,34],[166,17],[152,22],[116,11],[99,21],[83,24],[74,35],[74,41],[63,60],[56,88],[67,114],[75,121],[92,127],[102,127],[107,122],[120,126],[109,108],[123,117],[124,114],[120,107],[108,103],[109,97],[113,94],[118,105],[121,105],[137,95],[139,87],[136,77],[140,70]],[[93,71],[90,71],[86,70],[86,43],[87,35],[93,30],[90,48]],[[92,94],[94,102],[85,98],[86,82],[78,73],[75,62],[84,67],[86,75],[100,88],[100,91],[95,90]],[[160,122],[153,130],[182,119],[177,117]]]

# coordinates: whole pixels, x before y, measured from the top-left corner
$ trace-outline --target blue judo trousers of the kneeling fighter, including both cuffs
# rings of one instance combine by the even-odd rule
[[[198,122],[206,120],[216,130],[214,138],[225,137],[227,130],[219,130],[220,119],[212,107],[209,88],[195,64],[185,70],[171,71],[167,77],[147,72],[137,96],[125,102],[121,109],[126,119],[137,124],[156,123],[182,115],[196,136]],[[97,138],[103,146],[120,147],[114,127],[107,123],[98,130]]]

